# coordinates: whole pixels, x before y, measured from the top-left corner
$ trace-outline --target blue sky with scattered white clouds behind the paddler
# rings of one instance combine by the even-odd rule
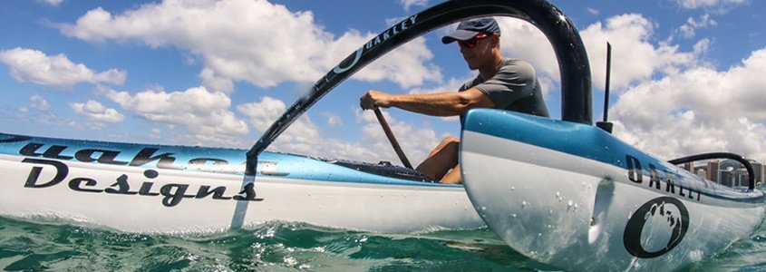
[[[0,9],[0,131],[67,139],[247,149],[310,86],[432,0],[14,0]],[[660,159],[729,151],[766,162],[766,23],[756,0],[552,0],[592,69],[594,121],[612,44],[609,121]],[[558,64],[538,29],[498,18],[502,53],[531,63],[553,118]],[[268,151],[400,164],[367,90],[454,92],[476,74],[454,25],[422,35],[340,84]],[[384,115],[414,164],[457,118]]]

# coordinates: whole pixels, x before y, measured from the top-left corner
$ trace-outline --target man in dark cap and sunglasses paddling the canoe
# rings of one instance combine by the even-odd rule
[[[393,94],[370,90],[360,98],[364,110],[396,107],[431,116],[465,116],[470,109],[494,108],[548,117],[534,68],[500,52],[500,29],[490,17],[458,24],[441,43],[458,42],[470,70],[479,74],[463,84],[458,92]],[[447,137],[415,168],[441,183],[461,183],[458,147],[460,140]]]

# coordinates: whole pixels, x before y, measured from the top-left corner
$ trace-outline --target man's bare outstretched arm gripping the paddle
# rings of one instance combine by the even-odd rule
[[[391,94],[370,90],[359,99],[364,110],[375,107],[396,107],[409,112],[432,116],[463,115],[473,108],[491,108],[495,104],[476,88],[463,92],[437,92],[426,94]]]

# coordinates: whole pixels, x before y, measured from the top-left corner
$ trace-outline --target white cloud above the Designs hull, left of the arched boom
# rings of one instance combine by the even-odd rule
[[[231,99],[224,92],[210,92],[205,87],[177,92],[101,92],[135,116],[182,127],[191,140],[230,146],[233,139],[249,132],[245,121],[229,110]]]

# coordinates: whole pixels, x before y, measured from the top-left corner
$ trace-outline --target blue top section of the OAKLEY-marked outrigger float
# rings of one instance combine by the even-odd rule
[[[743,191],[708,182],[664,160],[659,160],[618,140],[612,134],[594,126],[557,121],[518,112],[490,109],[470,111],[463,131],[474,131],[510,141],[524,142],[548,150],[559,151],[588,160],[596,160],[625,169],[626,176],[635,172],[635,179],[649,183],[656,177],[661,187],[697,189],[714,199],[760,203],[760,190]],[[669,180],[672,180],[668,182]],[[638,181],[640,183],[640,180]],[[660,185],[657,185],[660,187]]]

